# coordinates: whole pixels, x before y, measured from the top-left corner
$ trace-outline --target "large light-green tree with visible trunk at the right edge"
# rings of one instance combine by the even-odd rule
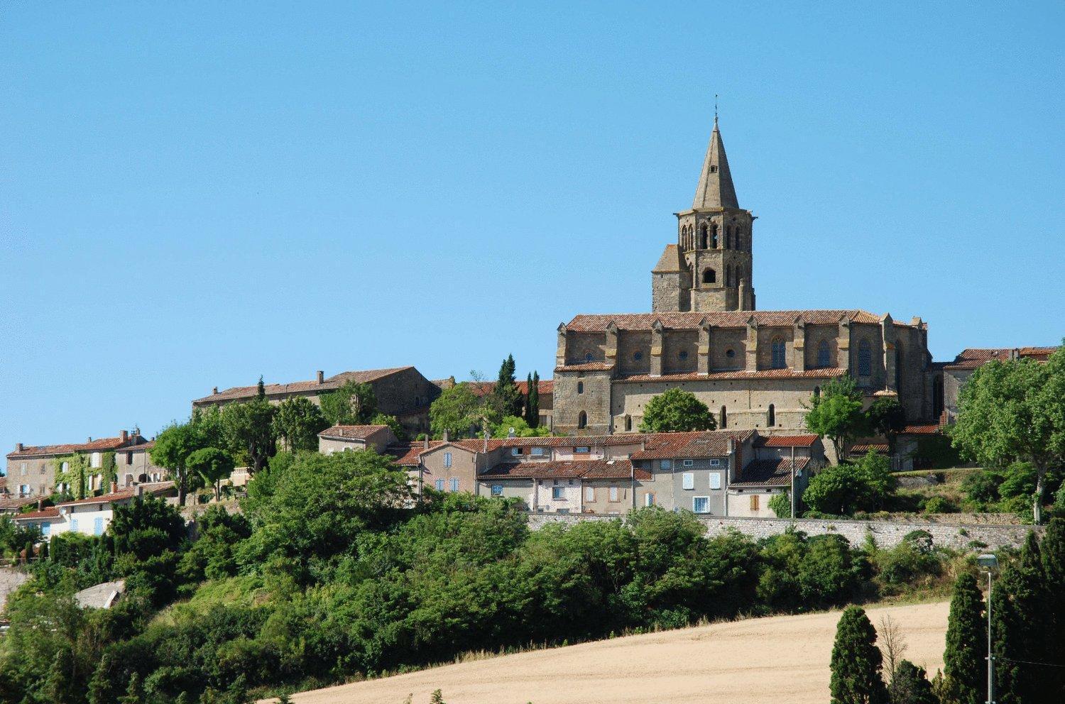
[[[1047,470],[1065,457],[1065,347],[1045,364],[995,360],[979,367],[962,388],[950,436],[985,465],[1031,462],[1032,513],[1042,523]]]

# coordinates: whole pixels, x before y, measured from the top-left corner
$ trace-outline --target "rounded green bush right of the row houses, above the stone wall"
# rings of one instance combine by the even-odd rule
[[[894,487],[890,462],[870,452],[854,463],[828,466],[814,475],[802,501],[822,514],[853,515],[880,509]]]

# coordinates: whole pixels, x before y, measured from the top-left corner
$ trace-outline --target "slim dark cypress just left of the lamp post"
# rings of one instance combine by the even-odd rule
[[[952,702],[980,704],[987,694],[987,624],[977,578],[957,575],[943,654],[945,687]]]

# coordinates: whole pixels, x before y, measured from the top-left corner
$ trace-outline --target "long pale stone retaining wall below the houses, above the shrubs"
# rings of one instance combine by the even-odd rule
[[[566,523],[575,525],[580,521],[612,521],[619,517],[581,513],[531,513],[529,528],[538,530],[548,523]],[[706,526],[706,535],[719,536],[728,528],[735,528],[746,536],[757,540],[784,533],[789,525],[809,536],[835,534],[847,538],[852,545],[858,546],[867,535],[872,535],[880,547],[894,547],[902,542],[903,537],[912,530],[927,530],[932,541],[939,547],[953,550],[984,551],[999,547],[1020,547],[1029,530],[1042,534],[1043,527],[1030,525],[944,525],[939,523],[897,521],[837,521],[821,519],[741,519],[721,517],[701,517],[700,522]]]

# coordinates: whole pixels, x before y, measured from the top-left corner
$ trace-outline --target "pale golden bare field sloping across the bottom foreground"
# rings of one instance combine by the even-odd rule
[[[904,657],[943,668],[949,604],[868,609],[890,615]],[[294,694],[297,704],[824,704],[839,611],[748,619],[447,665]],[[273,702],[275,700],[263,700]]]

